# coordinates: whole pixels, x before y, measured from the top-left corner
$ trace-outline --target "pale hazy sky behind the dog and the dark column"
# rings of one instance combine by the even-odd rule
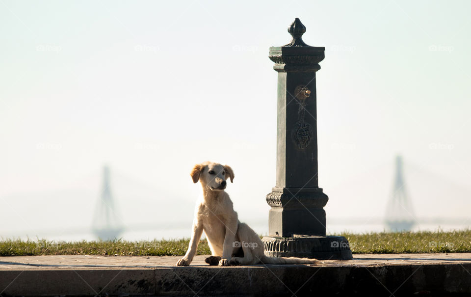
[[[188,174],[207,160],[233,167],[239,217],[267,220],[277,90],[268,49],[289,42],[295,17],[303,40],[326,48],[317,128],[328,218],[382,217],[396,154],[417,217],[469,217],[470,9],[0,0],[0,235],[89,226],[105,163],[125,224],[191,221],[201,189]]]

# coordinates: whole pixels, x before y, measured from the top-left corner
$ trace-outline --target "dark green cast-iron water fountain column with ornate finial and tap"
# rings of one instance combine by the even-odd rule
[[[344,237],[325,236],[328,197],[317,184],[315,73],[325,48],[303,42],[306,27],[298,18],[288,32],[291,42],[271,47],[269,54],[278,72],[278,115],[276,186],[266,196],[271,209],[265,253],[351,259]]]

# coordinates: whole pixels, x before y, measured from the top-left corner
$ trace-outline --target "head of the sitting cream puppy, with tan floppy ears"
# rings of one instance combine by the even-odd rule
[[[203,188],[213,191],[226,189],[226,180],[228,178],[231,179],[231,183],[234,180],[234,171],[230,166],[213,162],[196,164],[190,175],[193,183],[200,181]]]

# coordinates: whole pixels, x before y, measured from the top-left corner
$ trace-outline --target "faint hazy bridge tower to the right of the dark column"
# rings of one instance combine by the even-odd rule
[[[394,186],[386,208],[385,223],[390,231],[410,231],[415,225],[414,210],[406,191],[401,156],[396,156]]]

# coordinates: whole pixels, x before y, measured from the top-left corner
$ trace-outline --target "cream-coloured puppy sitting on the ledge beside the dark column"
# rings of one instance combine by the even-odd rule
[[[195,184],[201,183],[203,197],[196,204],[188,250],[177,266],[190,265],[203,232],[212,254],[206,259],[209,265],[322,264],[316,259],[265,256],[262,240],[247,224],[239,222],[231,198],[224,191],[226,180],[234,181],[230,166],[204,162],[196,164],[190,175]]]

